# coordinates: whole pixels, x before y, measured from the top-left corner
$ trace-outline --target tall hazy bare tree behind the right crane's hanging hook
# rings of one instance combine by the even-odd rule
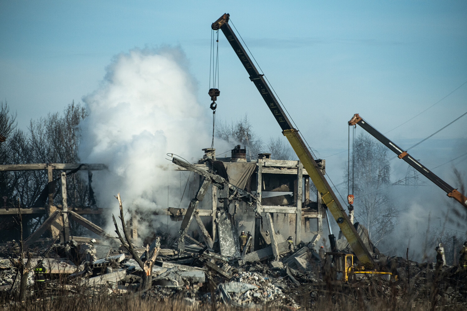
[[[388,149],[361,133],[355,139],[353,157],[355,218],[368,228],[369,238],[377,245],[394,229],[397,216],[388,194],[391,185]]]

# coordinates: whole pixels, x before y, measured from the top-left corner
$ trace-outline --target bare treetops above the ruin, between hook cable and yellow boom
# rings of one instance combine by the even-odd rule
[[[216,127],[216,136],[232,145],[247,147],[247,155],[250,159],[255,159],[258,153],[263,152],[262,138],[253,130],[247,114],[236,123],[220,122]]]

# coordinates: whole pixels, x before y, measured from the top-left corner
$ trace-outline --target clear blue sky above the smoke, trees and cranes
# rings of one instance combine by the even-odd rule
[[[347,149],[354,113],[385,133],[467,81],[466,1],[0,0],[0,99],[26,129],[96,90],[115,55],[170,45],[186,54],[209,117],[210,26],[226,12],[319,157]],[[218,120],[248,113],[265,140],[280,136],[222,34],[219,41]],[[466,112],[466,100],[467,84],[388,137],[407,148]],[[466,120],[412,154],[430,168],[467,152]],[[327,159],[336,180],[346,159]]]

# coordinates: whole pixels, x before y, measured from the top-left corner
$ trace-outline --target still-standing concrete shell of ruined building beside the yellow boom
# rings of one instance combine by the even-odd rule
[[[214,148],[203,151],[205,154],[198,164],[192,166],[193,171],[203,169],[215,172],[234,187],[254,195],[256,200],[253,207],[242,200],[229,200],[225,191],[212,185],[212,207],[208,209],[204,206],[204,209],[198,210],[198,217],[205,216],[202,218],[204,222],[211,224],[207,230],[212,241],[216,239],[216,227],[224,226],[222,221],[216,221],[216,211],[219,209],[232,215],[235,235],[238,236],[241,230],[251,232],[254,250],[268,245],[271,238],[281,243],[288,236],[293,236],[295,244],[298,244],[319,239],[322,235],[325,214],[320,194],[316,194],[317,202],[310,200],[310,178],[300,161],[271,159],[269,153],[261,153],[258,159],[247,161],[246,149],[240,145],[232,149],[228,158],[216,158]],[[325,160],[319,163],[324,170]],[[268,214],[271,221],[267,220]],[[204,230],[201,228],[201,231]],[[275,235],[271,236],[273,232]],[[222,248],[220,251],[222,254]]]

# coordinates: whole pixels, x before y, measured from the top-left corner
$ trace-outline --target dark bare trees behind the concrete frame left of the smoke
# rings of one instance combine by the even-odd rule
[[[31,120],[27,131],[16,128],[16,114],[9,106],[0,104],[0,134],[7,137],[0,143],[0,164],[25,163],[77,163],[80,141],[78,124],[86,117],[85,108],[72,102],[63,113],[50,113],[47,117]],[[60,172],[54,172],[59,180]],[[42,207],[47,204],[44,189],[48,184],[44,171],[0,172],[0,203],[14,205],[16,198],[21,206]],[[54,203],[62,202],[57,185]],[[89,201],[87,182],[79,174],[67,177],[68,202],[85,206]],[[35,220],[31,220],[35,221]]]

